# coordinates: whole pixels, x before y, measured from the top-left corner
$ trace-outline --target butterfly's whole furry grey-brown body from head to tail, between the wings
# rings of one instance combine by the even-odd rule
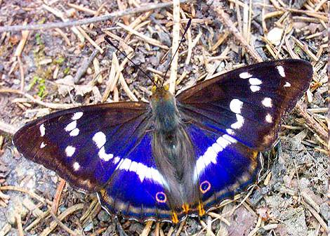
[[[156,165],[164,177],[169,204],[180,208],[197,202],[198,185],[193,173],[195,154],[185,126],[176,107],[174,96],[165,89],[157,89],[151,98],[154,133],[152,151]]]

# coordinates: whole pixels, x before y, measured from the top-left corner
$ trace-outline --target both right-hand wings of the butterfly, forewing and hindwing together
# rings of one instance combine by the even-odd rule
[[[302,60],[232,70],[183,91],[177,105],[196,152],[205,209],[256,182],[258,151],[277,140],[279,123],[312,79]]]

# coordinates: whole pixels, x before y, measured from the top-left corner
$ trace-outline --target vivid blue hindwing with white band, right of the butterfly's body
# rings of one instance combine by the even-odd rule
[[[194,171],[206,211],[256,183],[260,170],[257,151],[203,124],[192,122],[186,130],[194,145]]]

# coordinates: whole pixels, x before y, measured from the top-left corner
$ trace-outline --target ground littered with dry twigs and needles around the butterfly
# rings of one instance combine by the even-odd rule
[[[70,235],[70,230],[77,235],[115,235],[115,223],[100,208],[95,195],[81,194],[68,185],[59,198],[58,214],[52,216],[49,209],[59,178],[21,157],[11,144],[12,135],[25,122],[48,114],[53,108],[135,98],[148,100],[151,81],[131,63],[124,64],[119,53],[126,84],[122,79],[114,81],[114,74],[119,70],[117,67],[112,73],[110,68],[115,68],[112,53],[117,50],[104,41],[104,36],[107,34],[126,53],[133,51],[133,62],[148,74],[155,70],[162,73],[171,58],[172,39],[178,35],[172,29],[173,18],[178,18],[178,14],[173,16],[172,7],[157,8],[81,25],[79,29],[45,29],[42,24],[62,22],[61,14],[62,18],[74,21],[148,3],[108,1],[103,5],[100,1],[91,4],[83,0],[70,1],[77,6],[67,1],[47,1],[47,4],[0,1],[1,26],[26,23],[42,28],[29,34],[25,32],[23,37],[20,31],[0,33],[0,235],[19,232]],[[152,1],[149,4],[155,5]],[[247,197],[243,195],[200,219],[187,218],[177,226],[145,225],[119,217],[124,231],[128,235],[327,235],[326,1],[294,1],[293,6],[289,6],[289,1],[253,1],[252,8],[244,8],[242,1],[201,1],[181,7],[180,18],[193,16],[194,20],[186,34],[187,40],[179,49],[176,91],[217,72],[256,63],[256,56],[251,51],[246,53],[243,46],[244,41],[250,39],[252,49],[263,60],[274,60],[275,56],[296,57],[312,63],[315,74],[310,92],[301,100],[301,109],[306,107],[307,112],[296,108],[284,120],[279,145],[265,155],[260,181]],[[232,22],[224,22],[225,15],[220,13],[220,8],[229,14]],[[251,27],[246,20],[249,13]],[[134,20],[136,23],[130,25]],[[243,20],[247,24],[243,24]],[[117,22],[149,38],[142,39]],[[186,23],[187,20],[181,20],[180,35]],[[246,34],[237,36],[234,27],[244,28],[242,31]],[[278,30],[277,33],[268,35],[272,29]],[[270,44],[282,34],[281,29],[285,29],[286,34],[279,37],[279,46]],[[91,57],[95,46],[86,40],[85,34],[104,50],[96,53],[90,63],[86,63],[86,59]],[[192,46],[191,55],[188,44]],[[84,65],[86,70],[77,76]],[[110,81],[114,81],[114,86],[107,93]],[[62,220],[63,212],[67,216]],[[60,218],[62,225],[58,225],[55,218]]]

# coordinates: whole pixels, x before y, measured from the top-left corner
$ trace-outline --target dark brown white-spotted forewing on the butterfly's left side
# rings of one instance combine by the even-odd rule
[[[148,109],[147,103],[110,103],[62,110],[23,126],[13,143],[75,188],[95,192],[143,138]]]

